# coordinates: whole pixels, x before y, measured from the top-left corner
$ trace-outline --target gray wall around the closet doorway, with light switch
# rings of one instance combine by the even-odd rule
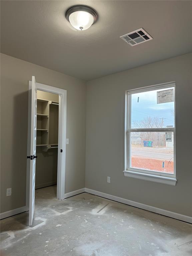
[[[25,206],[28,80],[32,75],[39,83],[67,90],[65,192],[85,187],[85,82],[1,54],[1,212]],[[12,196],[6,197],[10,187]]]

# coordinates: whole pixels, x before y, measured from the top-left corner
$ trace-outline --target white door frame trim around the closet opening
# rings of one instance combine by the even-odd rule
[[[29,81],[29,99],[31,97],[31,84]],[[59,130],[58,130],[58,166],[57,166],[57,199],[65,199],[65,163],[66,163],[66,126],[67,126],[67,90],[49,86],[36,82],[36,89],[44,92],[59,95]],[[30,127],[31,127],[31,104],[28,101],[28,136],[27,155],[30,155]],[[62,153],[60,152],[62,149]],[[38,161],[38,160],[37,160]],[[27,161],[26,173],[26,211],[29,210],[29,181],[30,181],[30,161]]]

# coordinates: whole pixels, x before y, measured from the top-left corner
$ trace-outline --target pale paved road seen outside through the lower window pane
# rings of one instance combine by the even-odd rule
[[[141,147],[141,148],[133,147],[132,156],[169,161],[173,157],[173,150],[169,148],[160,149],[160,148],[147,148],[147,147]],[[171,160],[173,161],[173,159]]]

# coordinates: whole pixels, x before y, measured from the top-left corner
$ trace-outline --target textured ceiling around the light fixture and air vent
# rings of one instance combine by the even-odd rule
[[[98,21],[75,31],[66,10],[84,4]],[[143,27],[154,39],[119,37]],[[192,52],[192,1],[1,1],[1,52],[84,80]]]

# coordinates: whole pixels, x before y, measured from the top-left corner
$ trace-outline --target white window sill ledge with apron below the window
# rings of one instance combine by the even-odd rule
[[[172,177],[165,177],[165,176],[147,174],[147,173],[135,172],[135,171],[123,171],[123,172],[124,172],[124,176],[126,177],[136,178],[141,180],[148,180],[148,181],[163,183],[163,184],[172,185],[172,186],[175,186],[177,181],[175,178],[172,178]]]

